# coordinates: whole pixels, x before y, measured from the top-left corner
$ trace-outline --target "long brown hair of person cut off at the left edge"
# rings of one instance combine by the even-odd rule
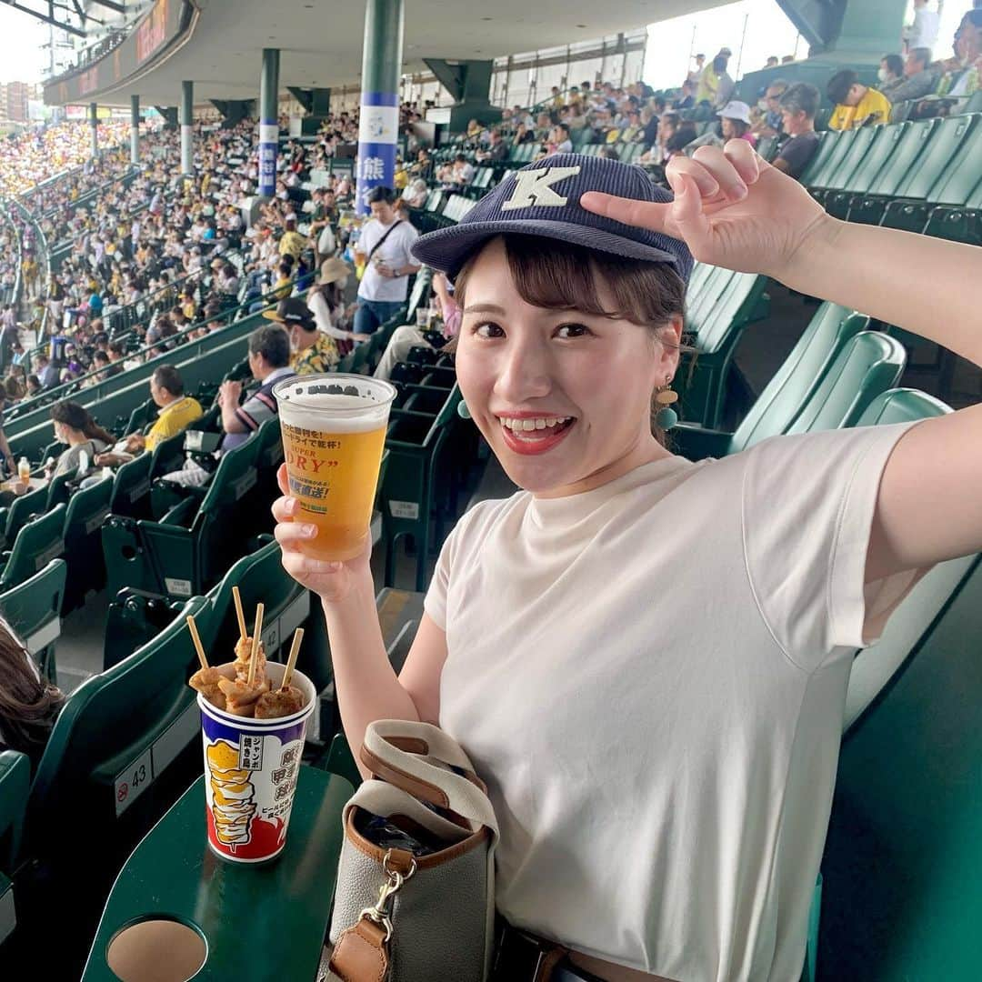
[[[40,677],[24,643],[0,618],[0,749],[26,753],[35,768],[64,702],[61,690]]]

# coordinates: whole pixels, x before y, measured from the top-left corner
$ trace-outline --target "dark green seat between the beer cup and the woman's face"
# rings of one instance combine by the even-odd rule
[[[430,521],[437,500],[444,449],[458,421],[461,391],[455,385],[434,416],[393,409],[385,447],[389,453],[381,481],[383,534],[386,540],[385,585],[395,585],[396,545],[409,535],[416,549],[415,589],[426,587]]]

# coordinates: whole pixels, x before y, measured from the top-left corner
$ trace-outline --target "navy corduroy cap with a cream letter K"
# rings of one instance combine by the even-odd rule
[[[513,171],[457,225],[420,236],[412,254],[453,279],[485,242],[512,233],[560,239],[629,259],[671,263],[688,282],[692,254],[682,240],[587,211],[579,205],[586,191],[658,203],[672,200],[671,192],[655,185],[640,167],[605,157],[557,153]]]

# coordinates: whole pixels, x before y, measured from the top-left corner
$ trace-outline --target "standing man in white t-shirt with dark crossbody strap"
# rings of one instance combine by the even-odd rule
[[[409,251],[419,233],[398,217],[394,200],[388,188],[368,192],[372,217],[365,222],[355,246],[358,262],[367,262],[358,287],[355,334],[371,334],[395,316],[406,302],[409,276],[419,269]]]

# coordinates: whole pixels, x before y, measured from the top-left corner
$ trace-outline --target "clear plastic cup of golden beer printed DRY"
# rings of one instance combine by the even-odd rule
[[[317,526],[308,556],[353,559],[365,547],[396,390],[365,375],[297,375],[273,387],[295,521]]]

